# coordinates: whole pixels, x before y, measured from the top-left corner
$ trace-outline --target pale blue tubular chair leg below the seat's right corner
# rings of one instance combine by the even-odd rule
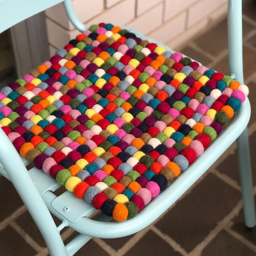
[[[239,171],[242,186],[242,196],[244,204],[244,221],[247,228],[256,225],[255,204],[252,185],[252,168],[250,161],[250,148],[247,128],[237,138],[237,152],[239,161]]]

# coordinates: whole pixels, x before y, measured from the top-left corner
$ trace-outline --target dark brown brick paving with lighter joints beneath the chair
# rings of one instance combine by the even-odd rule
[[[107,0],[109,5],[117,2]],[[256,150],[256,3],[243,9],[244,77],[252,117],[248,126],[251,154]],[[226,19],[197,37],[184,54],[228,75]],[[170,45],[171,46],[171,45]],[[256,160],[252,157],[254,191]],[[12,184],[0,177],[0,255],[46,256],[46,244]],[[236,143],[158,220],[135,235],[93,238],[76,255],[101,256],[253,256],[256,228],[244,226]],[[60,220],[54,218],[57,224]],[[77,233],[65,228],[67,244]]]

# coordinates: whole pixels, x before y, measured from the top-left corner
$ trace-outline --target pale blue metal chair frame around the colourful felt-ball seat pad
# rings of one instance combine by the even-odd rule
[[[38,1],[36,4],[33,0],[0,0],[0,32],[61,2],[63,2],[68,18],[73,25],[81,32],[86,30],[86,26],[79,21],[75,14],[72,0],[44,0]],[[28,6],[30,7],[28,8]],[[10,17],[12,18],[10,19]],[[128,27],[123,28],[129,29],[136,36],[148,39],[142,36],[140,32]],[[155,40],[148,40],[157,43]],[[228,42],[230,76],[236,78],[242,84],[244,82],[242,64],[242,0],[228,0]],[[171,50],[160,43],[157,44]],[[54,204],[54,200],[58,197],[51,191],[55,191],[60,185],[52,177],[39,171],[36,167],[27,171],[25,165],[28,164],[28,161],[24,158],[21,159],[2,129],[0,129],[0,173],[13,183],[44,237],[50,254],[52,256],[70,256],[74,255],[92,237],[117,238],[134,234],[146,228],[174,204],[211,167],[225,150],[237,140],[245,225],[248,228],[252,228],[256,225],[256,218],[247,134],[250,113],[250,103],[248,98],[246,98],[242,108],[236,113],[232,124],[220,135],[221,138],[217,138],[194,164],[180,175],[164,192],[148,204],[134,219],[126,220],[122,223],[108,223],[111,218],[103,214],[96,220],[81,218],[85,215],[76,216],[75,219],[72,219],[70,217],[70,214],[74,213],[72,212],[72,207],[77,211],[81,206],[79,204],[81,201],[77,204],[71,193],[64,193],[66,196],[64,197],[66,201],[64,201],[67,202],[70,199],[68,203],[72,204],[70,206],[70,214],[69,207],[65,206],[63,208],[65,202],[57,200]],[[73,202],[75,202],[74,205]],[[60,209],[61,207],[63,209]],[[92,206],[89,207],[89,205],[87,206],[88,209],[85,208],[82,214],[86,212],[86,217],[96,211],[95,209],[92,210]],[[59,227],[56,227],[50,212],[62,220]],[[66,226],[75,229],[80,234],[65,246],[60,237],[60,230]]]

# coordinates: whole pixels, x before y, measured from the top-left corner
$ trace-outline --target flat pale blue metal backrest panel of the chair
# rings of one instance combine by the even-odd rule
[[[0,0],[0,33],[64,0]]]

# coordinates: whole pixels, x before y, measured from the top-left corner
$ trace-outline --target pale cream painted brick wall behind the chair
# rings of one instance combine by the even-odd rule
[[[87,26],[100,22],[127,25],[179,50],[227,12],[228,0],[73,0]],[[45,11],[51,55],[79,33],[62,4]]]

